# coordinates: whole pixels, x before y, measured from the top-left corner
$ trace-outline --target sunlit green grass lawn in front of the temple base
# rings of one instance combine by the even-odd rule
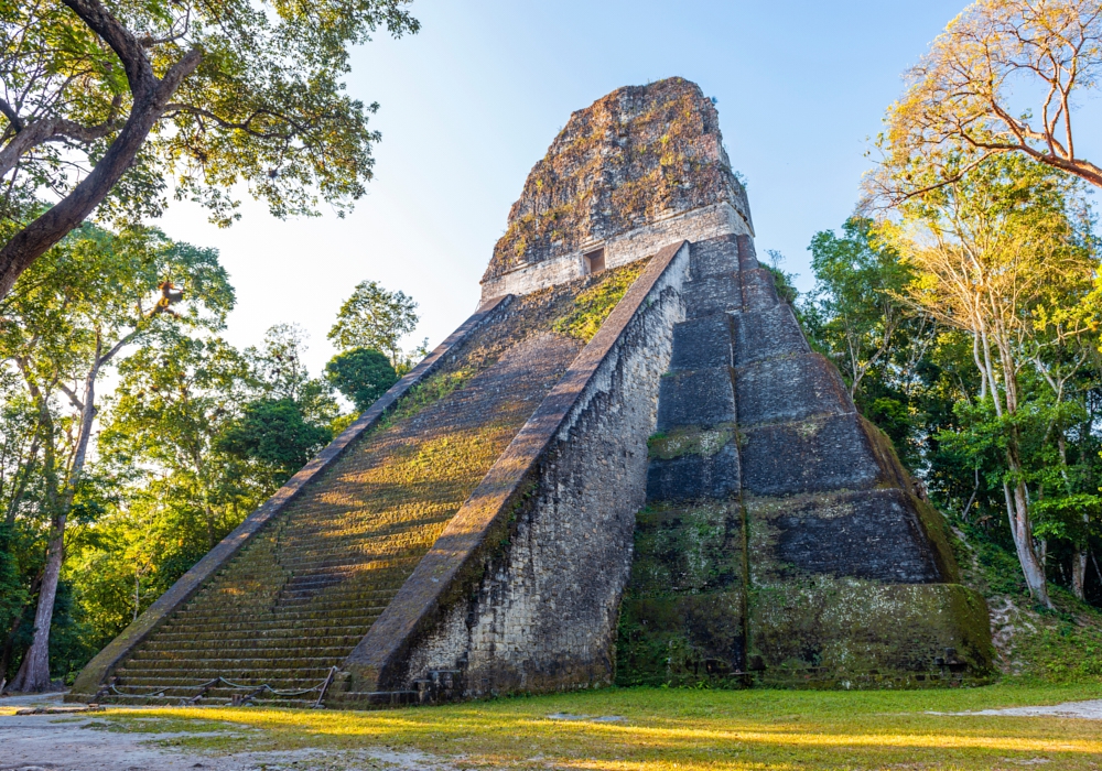
[[[203,731],[183,740],[192,749],[387,747],[469,768],[1099,769],[1100,720],[929,714],[1088,698],[1102,698],[1102,685],[896,692],[629,688],[387,712],[111,709],[102,719],[115,730]],[[557,713],[624,719],[549,719]]]

